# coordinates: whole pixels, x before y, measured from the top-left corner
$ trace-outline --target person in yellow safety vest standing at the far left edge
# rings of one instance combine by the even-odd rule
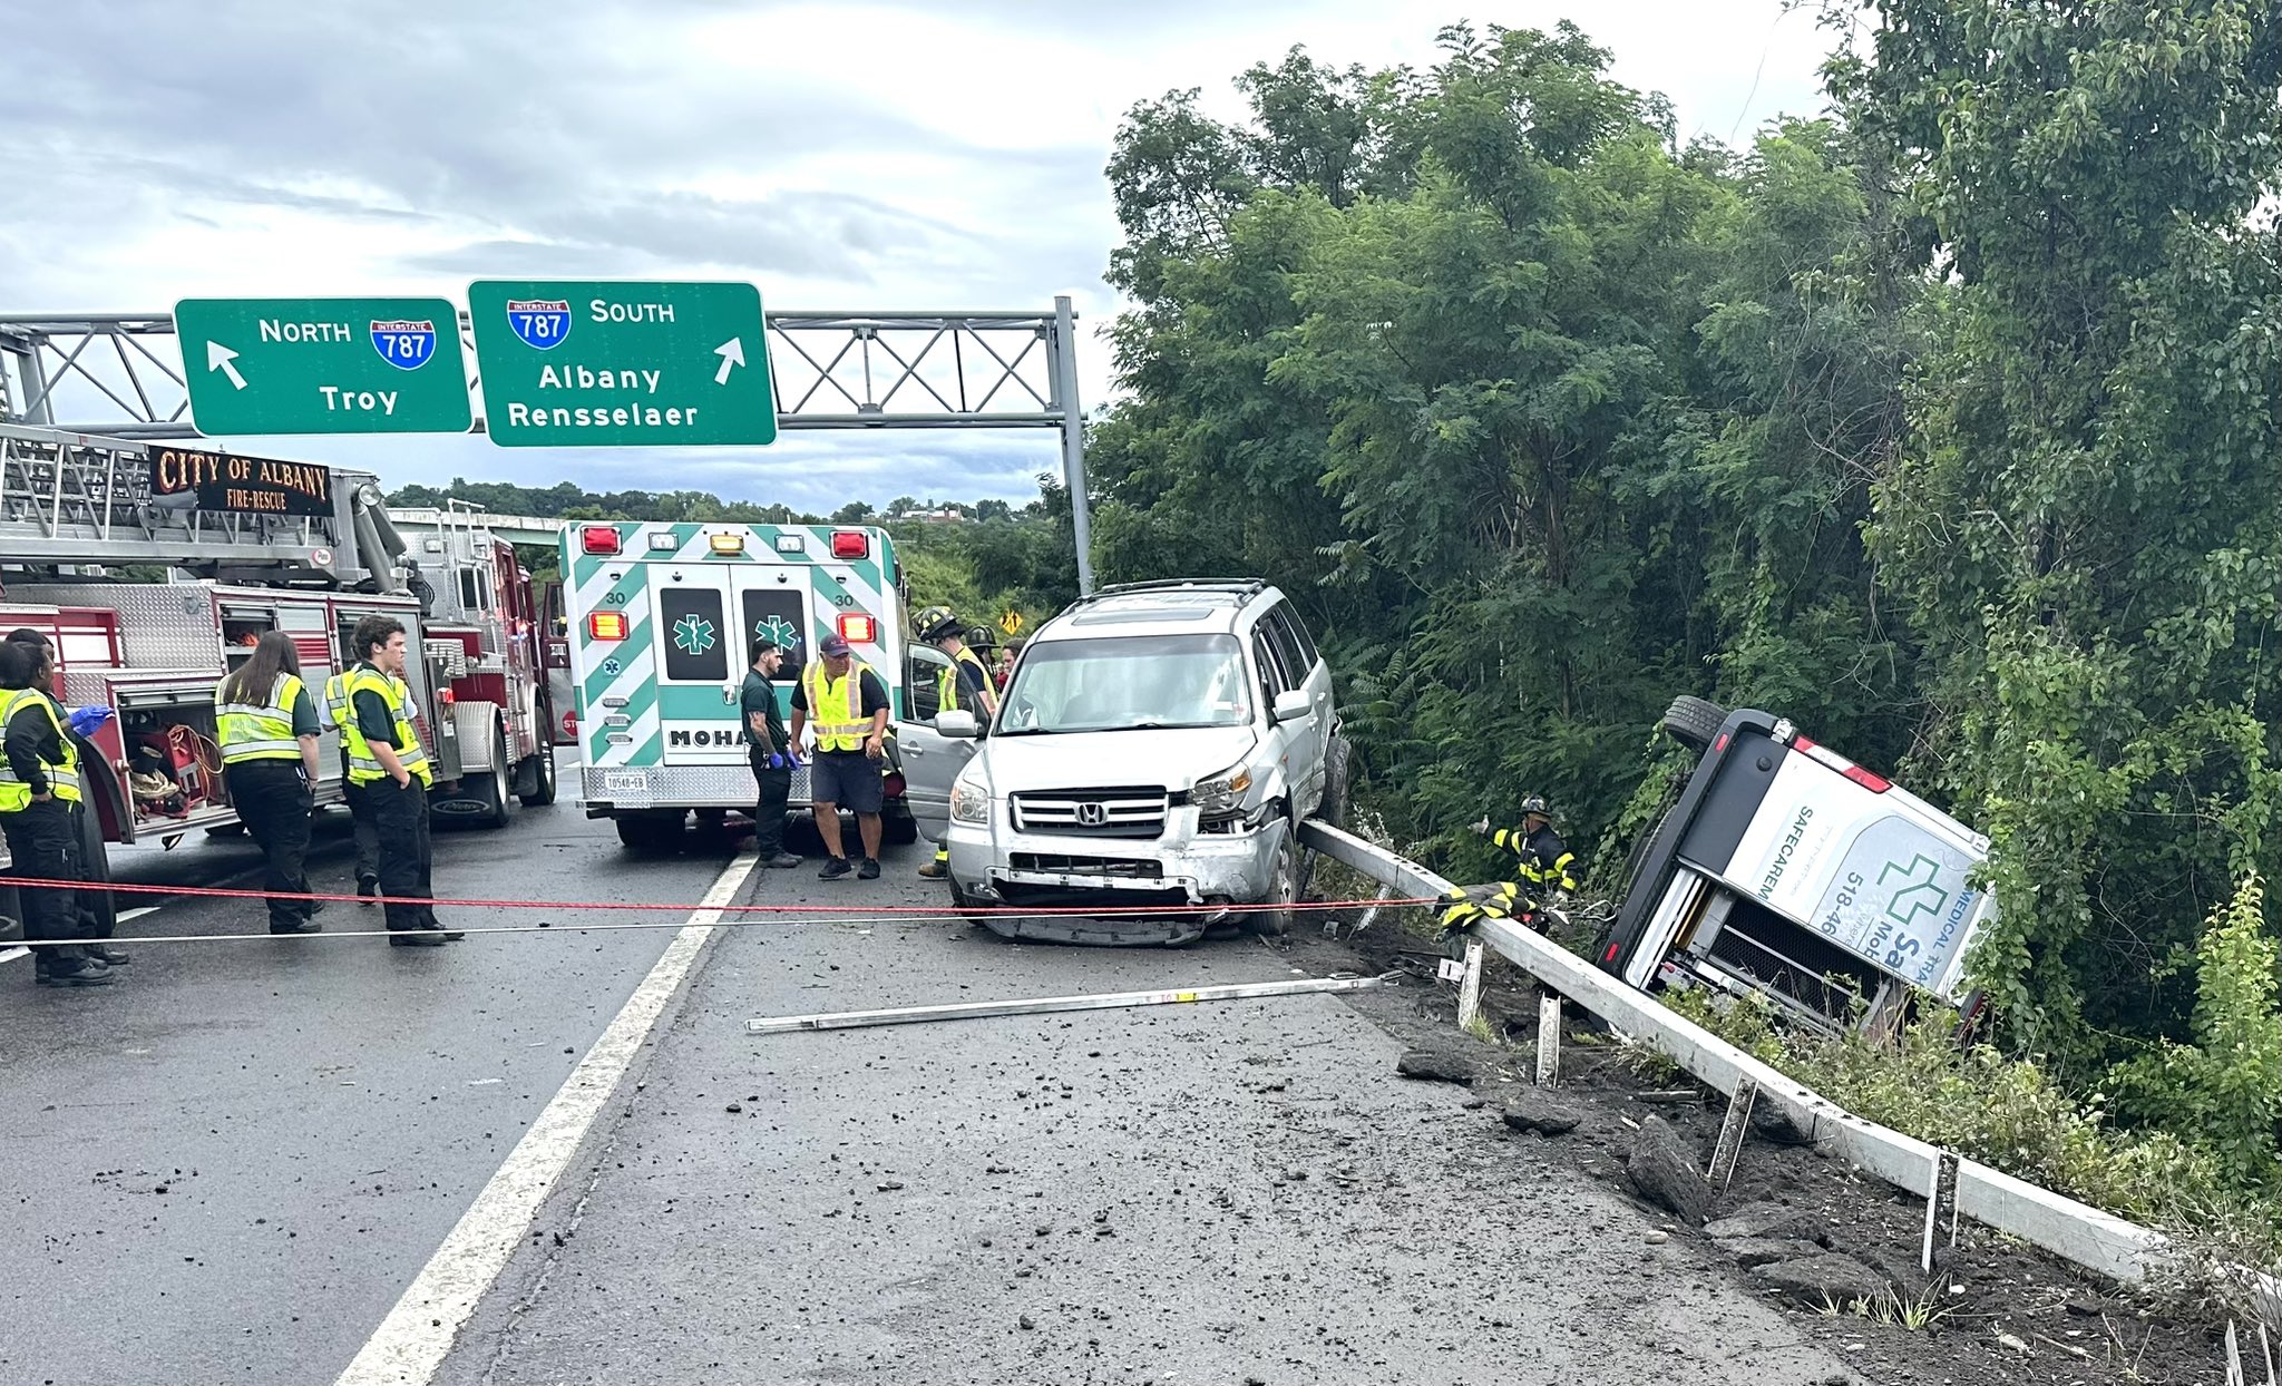
[[[46,646],[0,642],[0,833],[14,875],[46,881],[84,881],[80,859],[80,754],[64,735],[64,719],[48,680],[55,658]],[[78,891],[16,886],[25,941],[78,938]],[[105,986],[119,977],[87,945],[34,950],[32,977],[41,986]]]

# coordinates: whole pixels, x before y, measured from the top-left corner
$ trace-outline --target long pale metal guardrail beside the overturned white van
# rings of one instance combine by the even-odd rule
[[[1324,822],[1301,824],[1301,843],[1392,886],[1399,895],[1424,897],[1451,891],[1449,881],[1424,865]],[[1483,943],[1536,977],[1547,991],[1581,1005],[1627,1039],[1664,1053],[1707,1087],[1734,1096],[1739,1085],[1755,1082],[1759,1087],[1757,1101],[1773,1103],[1816,1144],[1830,1146],[1837,1155],[1899,1190],[1928,1201],[1940,1199],[1947,1155],[1953,1162],[1956,1212],[1960,1217],[2125,1283],[2145,1279],[2168,1244],[2161,1233],[2102,1212],[2090,1203],[1864,1121],[1686,1016],[1666,1009],[1652,996],[1634,991],[1623,980],[1511,920],[1483,920],[1476,932]],[[2275,1290],[2268,1286],[2266,1295],[2273,1297]]]

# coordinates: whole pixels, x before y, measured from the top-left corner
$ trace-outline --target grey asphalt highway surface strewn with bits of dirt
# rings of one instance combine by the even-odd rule
[[[347,888],[338,827],[313,863]],[[242,843],[135,854],[212,884]],[[141,861],[141,856],[153,856]],[[913,879],[618,849],[573,804],[438,836],[440,895],[940,904]],[[123,902],[132,904],[132,902]],[[1280,980],[1248,938],[1011,945],[945,920],[463,909],[377,938],[0,968],[0,1381],[1846,1379],[1700,1251],[1335,996],[748,1034],[748,1016]],[[733,916],[746,918],[746,916]],[[331,929],[379,927],[335,904]],[[121,934],[260,929],[176,897]]]

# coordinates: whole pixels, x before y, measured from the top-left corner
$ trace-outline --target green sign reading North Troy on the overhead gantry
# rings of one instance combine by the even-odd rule
[[[466,434],[468,368],[445,299],[183,299],[201,434]]]

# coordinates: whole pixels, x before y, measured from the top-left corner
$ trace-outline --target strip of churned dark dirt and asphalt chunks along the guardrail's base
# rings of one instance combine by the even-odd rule
[[[2227,1377],[2225,1324],[2104,1283],[1972,1222],[1960,1222],[1953,1247],[1940,1228],[1935,1270],[1926,1274],[1924,1199],[1803,1144],[1780,1121],[1755,1121],[1732,1183],[1718,1192],[1705,1185],[1707,1226],[1691,1226],[1643,1194],[1654,1187],[1657,1162],[1636,1149],[1661,1121],[1705,1169],[1725,1117],[1721,1094],[1643,1062],[1577,1007],[1563,1012],[1559,1085],[1540,1089],[1540,993],[1524,973],[1490,957],[1483,1012],[1497,1039],[1470,1039],[1456,1025],[1456,986],[1431,982],[1438,954],[1429,938],[1403,932],[1399,916],[1340,941],[1326,938],[1321,925],[1303,916],[1273,945],[1317,975],[1424,973],[1415,984],[1349,1000],[1413,1046],[1406,1066],[1424,1082],[1435,1071],[1463,1078],[1451,1085],[1454,1098],[1479,1112],[1483,1149],[1518,1167],[1563,1165],[1607,1183],[1638,1208],[1643,1235],[1696,1244],[1707,1265],[1764,1295],[1851,1363],[1858,1375],[1848,1381],[2186,1386]],[[1342,918],[1342,934],[1349,925]]]

